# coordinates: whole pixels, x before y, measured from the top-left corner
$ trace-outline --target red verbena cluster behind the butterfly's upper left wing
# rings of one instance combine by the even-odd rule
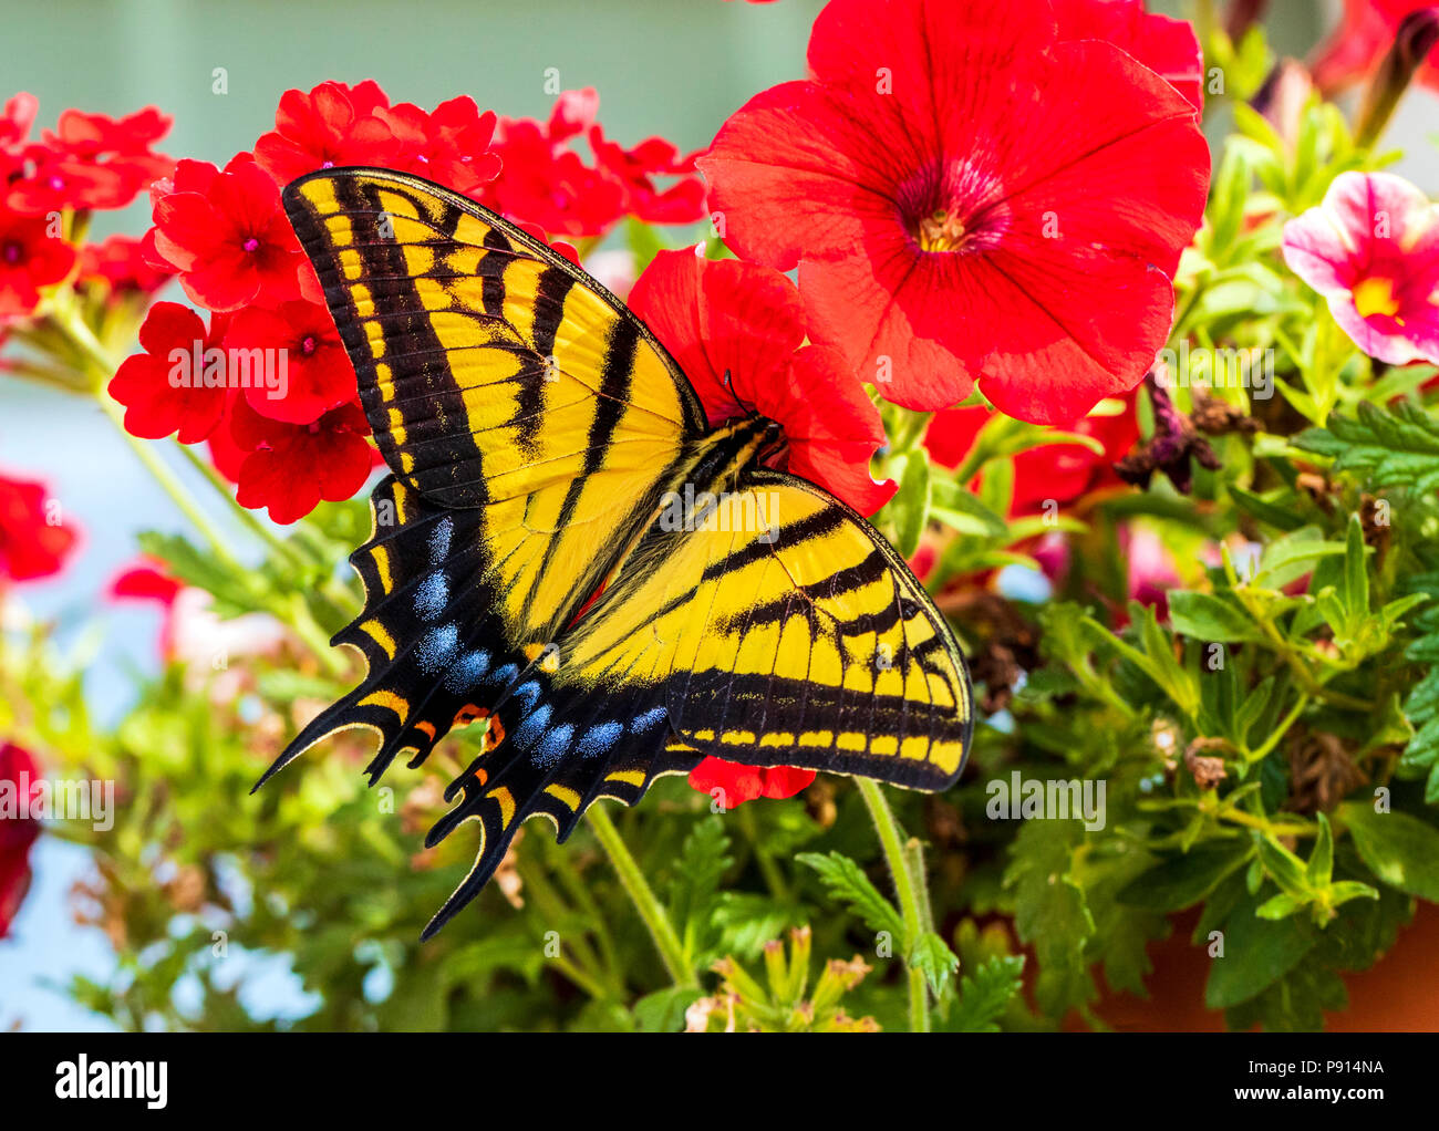
[[[127,429],[209,442],[239,502],[268,508],[276,522],[304,517],[321,499],[351,498],[380,456],[281,188],[319,168],[397,168],[540,237],[576,240],[600,237],[626,216],[699,219],[694,158],[659,138],[632,150],[610,141],[594,121],[597,106],[593,91],[571,91],[547,122],[499,119],[466,96],[426,111],[391,104],[373,81],[324,82],[288,91],[275,130],[223,168],[180,161],[151,187],[142,262],[176,273],[204,317],[174,302],[150,312],[144,353],[109,386],[127,409]],[[574,148],[581,137],[589,160]],[[662,187],[668,180],[675,183]]]

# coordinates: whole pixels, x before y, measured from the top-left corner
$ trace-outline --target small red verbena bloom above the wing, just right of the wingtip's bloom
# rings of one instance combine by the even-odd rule
[[[499,155],[489,145],[495,112],[479,112],[475,99],[452,98],[426,112],[410,102],[380,106],[374,117],[399,141],[394,168],[414,173],[466,196],[499,176]]]

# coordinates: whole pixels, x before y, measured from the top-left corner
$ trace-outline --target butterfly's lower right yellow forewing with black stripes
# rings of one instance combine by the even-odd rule
[[[778,472],[696,530],[652,528],[558,648],[561,683],[663,688],[672,754],[940,790],[968,747],[943,614],[862,518]]]

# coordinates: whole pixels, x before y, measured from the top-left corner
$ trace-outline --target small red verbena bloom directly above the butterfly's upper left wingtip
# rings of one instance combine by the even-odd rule
[[[391,167],[401,142],[377,115],[389,105],[374,79],[358,86],[322,82],[309,94],[286,91],[275,111],[275,130],[255,142],[255,160],[279,186],[317,168]]]

